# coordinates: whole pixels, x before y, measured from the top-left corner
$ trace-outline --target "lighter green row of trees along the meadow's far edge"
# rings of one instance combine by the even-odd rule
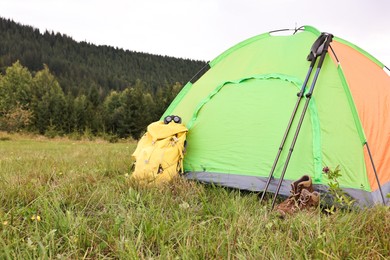
[[[0,74],[0,130],[55,135],[88,131],[139,139],[181,87],[177,83],[153,94],[137,80],[99,102],[95,92],[65,94],[48,66],[33,75],[17,61]]]

